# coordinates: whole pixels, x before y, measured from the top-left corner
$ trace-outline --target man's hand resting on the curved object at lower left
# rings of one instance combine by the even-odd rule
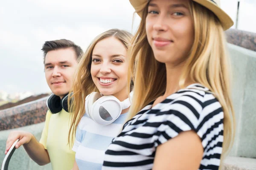
[[[6,142],[6,151],[5,154],[7,154],[7,152],[9,151],[10,147],[12,146],[12,144],[19,139],[19,141],[17,142],[17,144],[15,145],[15,148],[19,148],[21,145],[23,144],[27,144],[30,142],[31,138],[32,138],[32,133],[29,132],[25,132],[25,131],[12,131],[7,139]]]

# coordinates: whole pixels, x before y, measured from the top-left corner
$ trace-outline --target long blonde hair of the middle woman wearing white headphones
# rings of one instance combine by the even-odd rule
[[[110,29],[103,32],[102,34],[99,34],[91,42],[84,55],[81,57],[76,73],[76,79],[74,80],[73,87],[68,98],[69,112],[72,113],[71,126],[68,137],[69,143],[71,142],[73,144],[73,136],[76,133],[76,128],[85,113],[85,97],[94,91],[99,92],[96,85],[93,83],[93,79],[90,73],[92,53],[95,45],[99,41],[108,37],[115,37],[116,39],[120,40],[126,49],[128,49],[128,47],[131,45],[132,35],[130,32],[119,29]]]

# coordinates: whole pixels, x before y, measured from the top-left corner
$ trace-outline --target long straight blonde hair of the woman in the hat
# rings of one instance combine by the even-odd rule
[[[136,11],[142,12],[142,20],[128,50],[128,55],[131,57],[128,77],[134,80],[134,95],[128,120],[148,103],[163,95],[166,90],[166,66],[154,58],[146,36],[147,6],[148,2]],[[224,142],[221,156],[223,159],[233,144],[235,133],[227,43],[221,23],[212,11],[193,1],[189,6],[193,16],[195,40],[186,59],[179,85],[184,88],[186,79],[201,83],[209,88],[221,103],[224,111]]]

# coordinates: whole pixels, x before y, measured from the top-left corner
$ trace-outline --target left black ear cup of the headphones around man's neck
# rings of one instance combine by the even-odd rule
[[[58,113],[61,111],[61,98],[52,94],[46,101],[47,108],[52,114]]]

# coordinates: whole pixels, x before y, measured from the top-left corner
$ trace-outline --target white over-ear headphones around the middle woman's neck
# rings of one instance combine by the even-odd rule
[[[93,92],[85,98],[85,113],[99,125],[109,125],[120,116],[122,110],[130,107],[130,99],[120,102],[115,96],[102,96]]]

